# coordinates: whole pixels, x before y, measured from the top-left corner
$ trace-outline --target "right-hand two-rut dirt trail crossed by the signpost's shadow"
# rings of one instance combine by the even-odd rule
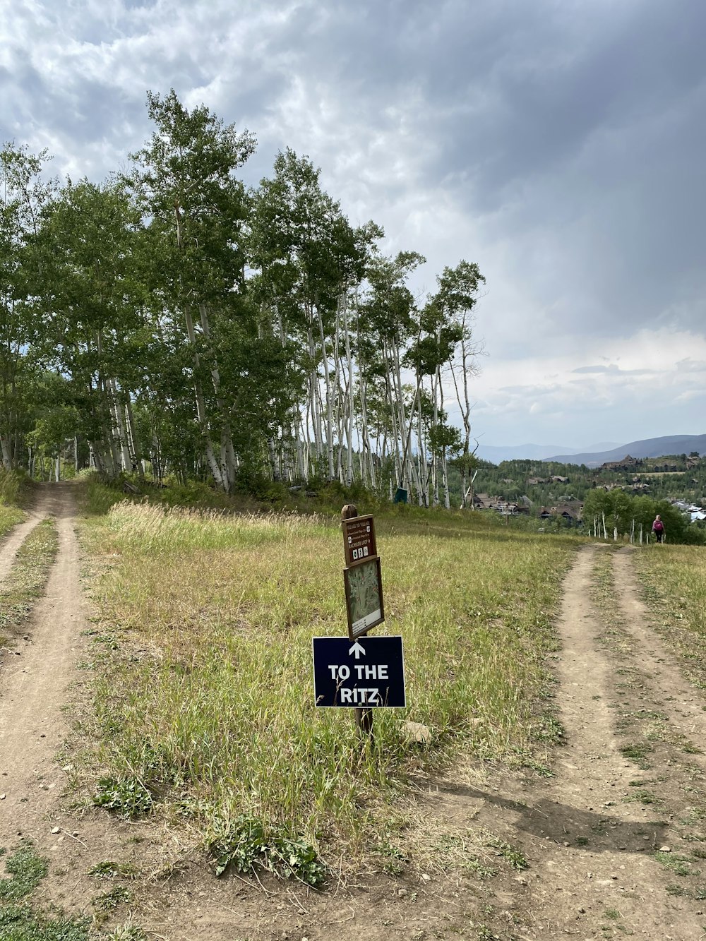
[[[664,847],[669,853],[683,849],[674,812],[680,807],[665,813],[664,801],[650,805],[654,795],[648,801],[645,794],[644,803],[634,799],[641,793],[634,786],[645,768],[621,753],[628,740],[618,719],[633,710],[651,716],[659,707],[666,712],[661,716],[666,726],[699,735],[706,727],[704,701],[650,630],[628,553],[613,556],[614,598],[619,599],[622,628],[638,646],[634,659],[624,652],[618,658],[605,646],[604,618],[592,601],[594,564],[604,551],[601,546],[581,550],[564,585],[557,625],[562,650],[555,675],[567,744],[557,751],[554,778],[521,791],[505,781],[498,792],[466,793],[477,799],[475,821],[496,831],[504,826],[507,838],[517,839],[530,862],[528,872],[518,877],[525,898],[513,892],[506,900],[522,924],[518,938],[624,933],[675,941],[703,938],[704,902],[682,894],[679,885],[667,891],[674,877],[655,856]],[[630,671],[641,680],[636,698],[618,702],[621,677]],[[696,754],[688,758],[690,764],[704,761]],[[662,755],[654,762],[662,792],[694,791],[700,775],[690,768],[680,776],[673,761],[673,756]],[[676,858],[666,852],[662,856],[667,862]]]

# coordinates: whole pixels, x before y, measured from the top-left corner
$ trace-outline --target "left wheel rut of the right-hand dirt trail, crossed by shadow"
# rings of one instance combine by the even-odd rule
[[[579,554],[558,623],[562,653],[556,676],[567,745],[546,797],[530,812],[533,868],[539,874],[537,933],[596,932],[606,923],[606,911],[618,911],[623,925],[648,937],[664,938],[677,925],[682,933],[674,936],[698,937],[700,923],[682,900],[664,904],[663,873],[648,855],[664,845],[665,827],[645,826],[639,805],[619,803],[630,793],[635,767],[619,751],[611,709],[615,676],[599,643],[602,622],[590,600],[592,566],[600,551],[589,547]],[[683,933],[688,922],[693,935]]]

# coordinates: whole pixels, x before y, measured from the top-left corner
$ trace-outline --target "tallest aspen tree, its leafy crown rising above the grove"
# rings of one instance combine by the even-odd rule
[[[205,105],[187,110],[173,89],[164,98],[148,92],[147,100],[156,131],[133,154],[135,167],[128,179],[165,247],[168,283],[161,295],[173,329],[181,318],[191,350],[197,422],[208,467],[217,486],[231,490],[236,416],[222,394],[211,321],[228,316],[233,291],[242,287],[238,232],[247,199],[235,172],[254,151],[255,141],[247,131],[238,134],[233,125],[224,126]]]

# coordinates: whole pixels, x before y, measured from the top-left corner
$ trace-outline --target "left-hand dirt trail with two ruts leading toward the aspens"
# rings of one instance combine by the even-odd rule
[[[86,626],[74,514],[70,485],[42,487],[30,520],[0,550],[0,566],[5,564],[7,572],[32,528],[42,518],[56,518],[56,561],[24,630],[28,641],[22,642],[19,657],[3,658],[0,666],[0,793],[6,795],[0,801],[0,846],[16,845],[18,837],[25,837],[40,853],[53,856],[56,868],[47,894],[66,904],[86,901],[81,874],[88,860],[114,842],[116,831],[107,819],[78,821],[62,805],[71,772],[61,758],[69,734],[64,706],[77,677]],[[52,833],[56,827],[60,832]],[[66,885],[63,876],[69,877]]]

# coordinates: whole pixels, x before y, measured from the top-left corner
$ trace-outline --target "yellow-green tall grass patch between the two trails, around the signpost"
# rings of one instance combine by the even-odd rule
[[[313,706],[311,638],[346,632],[336,520],[123,502],[83,539],[99,560],[98,639],[119,641],[98,658],[97,760],[207,836],[245,813],[355,851],[415,768],[459,748],[531,752],[572,540],[453,514],[379,518],[382,630],[404,638],[409,707],[377,710],[361,748],[348,710]],[[408,742],[408,718],[430,746]]]

